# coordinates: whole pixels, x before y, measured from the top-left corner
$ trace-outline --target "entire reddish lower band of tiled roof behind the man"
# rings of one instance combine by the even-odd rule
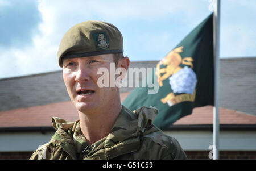
[[[121,93],[123,101],[129,93]],[[197,107],[191,115],[177,120],[174,125],[200,125],[213,123],[212,106]],[[0,128],[10,127],[51,127],[51,118],[57,116],[68,121],[78,118],[71,101],[49,105],[26,107],[0,112]],[[256,124],[256,116],[220,108],[220,124]]]

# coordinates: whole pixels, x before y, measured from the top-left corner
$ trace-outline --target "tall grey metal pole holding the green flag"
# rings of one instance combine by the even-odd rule
[[[214,1],[213,54],[214,54],[214,107],[213,107],[213,160],[219,159],[219,81],[220,81],[220,0]]]

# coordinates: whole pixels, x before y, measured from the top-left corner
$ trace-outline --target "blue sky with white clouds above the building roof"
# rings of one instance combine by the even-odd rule
[[[130,61],[161,60],[213,12],[212,1],[0,0],[0,78],[61,70],[60,41],[85,20],[117,26]],[[255,0],[221,1],[221,58],[256,57],[255,16]]]

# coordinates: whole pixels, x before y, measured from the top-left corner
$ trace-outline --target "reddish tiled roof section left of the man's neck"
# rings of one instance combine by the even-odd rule
[[[71,101],[0,112],[0,127],[48,127],[53,116],[67,121],[78,119]]]

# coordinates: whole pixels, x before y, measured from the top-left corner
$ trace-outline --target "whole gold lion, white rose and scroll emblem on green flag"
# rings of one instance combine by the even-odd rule
[[[196,74],[193,72],[192,57],[182,58],[179,54],[183,52],[183,47],[172,50],[163,60],[156,65],[155,74],[158,76],[159,86],[163,86],[163,80],[169,79],[169,84],[173,92],[161,99],[162,103],[168,103],[169,106],[184,101],[195,101],[196,93]],[[180,64],[188,65],[184,68]],[[166,65],[160,68],[160,65]],[[162,75],[161,75],[162,74]],[[174,95],[174,93],[183,93]]]

